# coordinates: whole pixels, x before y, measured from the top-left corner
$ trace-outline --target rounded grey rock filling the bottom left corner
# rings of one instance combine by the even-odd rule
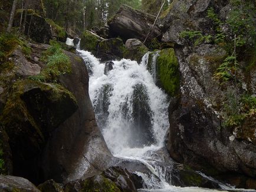
[[[30,181],[22,177],[0,175],[0,191],[40,192]]]

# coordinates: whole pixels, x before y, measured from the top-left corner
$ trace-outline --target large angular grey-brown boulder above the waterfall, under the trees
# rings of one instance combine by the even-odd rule
[[[145,41],[148,36],[147,42],[150,42],[155,37],[160,38],[161,34],[157,25],[152,28],[155,19],[153,15],[122,5],[117,14],[107,24],[109,25],[111,37],[121,37],[125,42],[131,38]]]

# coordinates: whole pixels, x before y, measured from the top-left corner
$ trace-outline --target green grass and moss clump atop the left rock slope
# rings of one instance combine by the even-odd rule
[[[41,61],[47,62],[38,75],[33,75],[29,79],[41,82],[57,82],[57,77],[71,72],[71,61],[61,49],[61,45],[51,41],[51,47],[42,54]]]

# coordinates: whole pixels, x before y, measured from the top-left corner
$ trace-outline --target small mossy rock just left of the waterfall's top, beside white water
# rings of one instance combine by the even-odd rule
[[[98,44],[101,41],[100,37],[93,32],[84,31],[80,41],[80,48],[90,51],[94,55],[97,54]]]

